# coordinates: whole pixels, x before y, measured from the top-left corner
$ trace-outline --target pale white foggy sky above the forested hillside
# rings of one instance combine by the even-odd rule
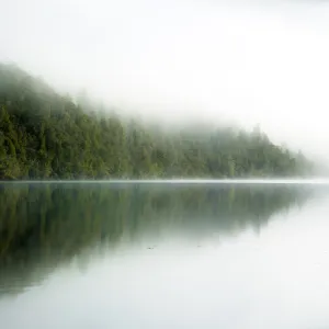
[[[0,60],[63,91],[167,121],[260,123],[329,159],[329,1],[0,3]]]

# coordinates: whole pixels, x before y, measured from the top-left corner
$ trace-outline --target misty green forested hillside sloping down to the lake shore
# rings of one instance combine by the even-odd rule
[[[0,180],[296,177],[310,167],[260,129],[164,133],[0,65]]]

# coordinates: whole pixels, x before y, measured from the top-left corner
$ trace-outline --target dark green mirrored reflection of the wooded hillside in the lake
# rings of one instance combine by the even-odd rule
[[[259,228],[304,201],[288,186],[26,184],[0,193],[0,287],[98,243],[170,230],[192,237]],[[11,277],[12,279],[12,277]],[[12,279],[13,280],[13,279]]]

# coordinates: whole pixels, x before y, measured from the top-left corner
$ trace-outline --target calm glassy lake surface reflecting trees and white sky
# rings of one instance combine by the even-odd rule
[[[0,328],[329,328],[329,185],[0,184]]]

